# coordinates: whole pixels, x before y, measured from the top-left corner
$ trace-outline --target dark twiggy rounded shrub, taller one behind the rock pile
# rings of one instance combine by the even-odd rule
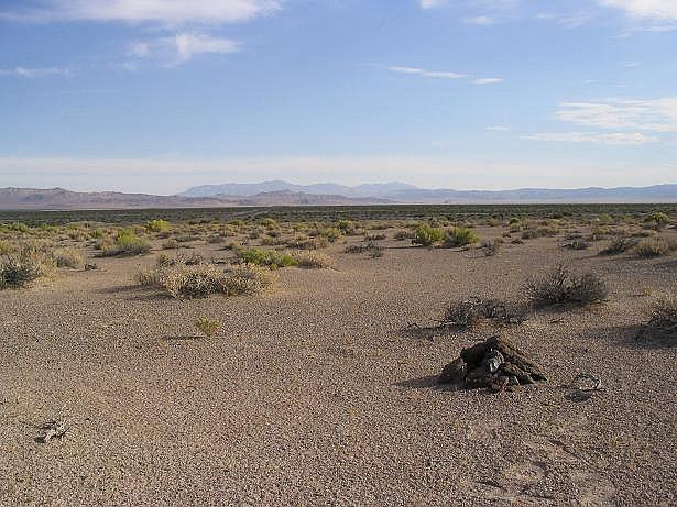
[[[527,283],[526,291],[535,307],[553,305],[588,306],[603,302],[608,295],[605,282],[594,273],[572,273],[559,265],[540,279]]]

